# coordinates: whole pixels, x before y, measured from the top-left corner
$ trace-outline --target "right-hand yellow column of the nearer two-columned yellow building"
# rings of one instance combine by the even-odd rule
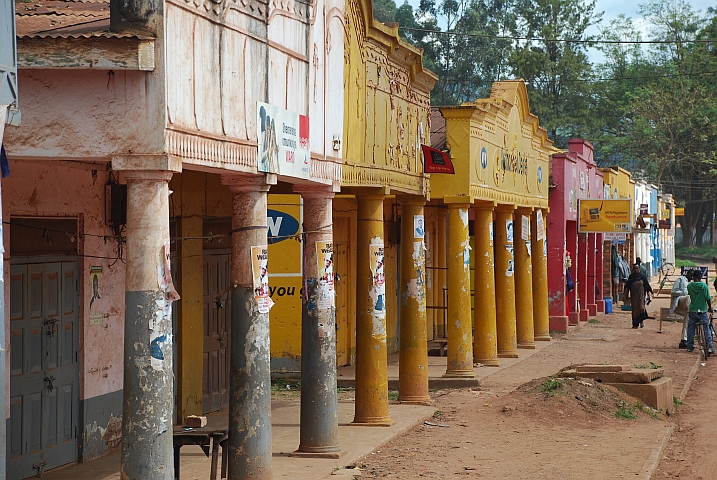
[[[398,400],[430,403],[426,334],[426,243],[422,198],[401,199],[401,324]]]

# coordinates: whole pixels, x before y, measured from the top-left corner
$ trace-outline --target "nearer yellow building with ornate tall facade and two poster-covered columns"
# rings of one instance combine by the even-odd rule
[[[391,422],[387,353],[399,343],[399,399],[429,400],[425,250],[414,221],[422,224],[429,195],[420,146],[428,143],[437,78],[397,27],[373,19],[369,1],[348,2],[344,42],[344,162],[333,215],[337,356],[338,365],[356,364],[354,423],[381,425]]]

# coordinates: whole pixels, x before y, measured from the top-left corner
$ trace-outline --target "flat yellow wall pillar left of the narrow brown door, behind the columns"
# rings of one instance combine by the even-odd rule
[[[172,186],[178,184],[181,215],[177,242],[179,284],[181,298],[177,301],[179,343],[177,348],[177,420],[182,423],[189,415],[201,415],[202,377],[204,365],[204,260],[203,220],[206,174],[185,170],[175,175]],[[176,205],[176,204],[175,204]],[[210,305],[213,308],[213,305]]]

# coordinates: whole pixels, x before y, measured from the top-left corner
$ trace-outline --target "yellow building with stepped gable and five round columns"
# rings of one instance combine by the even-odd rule
[[[555,149],[530,113],[522,80],[497,82],[490,98],[437,110],[432,146],[449,153],[455,174],[431,176],[429,298],[444,305],[445,285],[448,306],[445,331],[440,309],[429,327],[447,337],[446,376],[470,377],[474,361],[498,365],[498,357],[550,340],[545,218]]]

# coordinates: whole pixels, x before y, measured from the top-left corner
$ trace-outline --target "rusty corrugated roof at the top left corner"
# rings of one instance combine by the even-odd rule
[[[151,38],[110,32],[109,0],[17,0],[18,38]]]

